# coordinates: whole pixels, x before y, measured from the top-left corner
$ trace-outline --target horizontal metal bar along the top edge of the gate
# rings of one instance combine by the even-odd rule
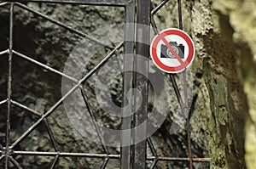
[[[104,6],[125,6],[131,0],[7,0],[9,2],[20,3],[69,3],[69,4],[83,4],[83,5],[104,5]]]

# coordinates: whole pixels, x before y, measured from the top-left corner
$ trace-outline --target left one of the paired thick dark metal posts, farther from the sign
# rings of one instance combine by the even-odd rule
[[[133,74],[131,71],[134,69],[134,46],[135,46],[135,7],[136,2],[132,0],[125,6],[125,58],[124,58],[124,78],[123,78],[123,105],[132,104],[133,98],[128,97],[133,87]],[[123,106],[123,107],[124,107]],[[123,115],[131,115],[132,106],[128,106]],[[122,118],[121,128],[121,169],[131,168],[131,121],[132,115]],[[128,129],[128,130],[127,130]],[[122,146],[122,145],[126,146]]]

